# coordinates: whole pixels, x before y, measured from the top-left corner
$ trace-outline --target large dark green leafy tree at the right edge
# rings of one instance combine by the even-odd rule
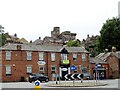
[[[120,50],[120,20],[112,18],[106,20],[97,38],[96,50],[103,52],[106,48],[111,51],[112,46]]]

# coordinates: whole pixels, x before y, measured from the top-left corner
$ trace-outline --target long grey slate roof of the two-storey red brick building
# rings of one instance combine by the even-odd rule
[[[34,44],[6,44],[0,47],[0,50],[17,50],[17,45],[21,45],[21,50],[29,50],[29,51],[61,52],[61,50],[65,48],[68,52],[89,53],[83,47],[63,47],[63,46],[34,45]]]

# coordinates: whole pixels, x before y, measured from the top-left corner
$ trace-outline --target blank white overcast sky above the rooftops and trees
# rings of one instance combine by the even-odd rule
[[[120,0],[1,0],[0,25],[10,35],[28,41],[51,36],[53,27],[60,32],[100,35],[103,23],[118,16]]]

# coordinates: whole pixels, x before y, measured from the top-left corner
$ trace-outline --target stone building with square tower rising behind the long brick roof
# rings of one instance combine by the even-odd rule
[[[37,45],[65,45],[69,40],[76,40],[76,33],[64,31],[60,33],[60,27],[54,27],[51,36],[45,36],[43,40],[37,39],[33,44]]]

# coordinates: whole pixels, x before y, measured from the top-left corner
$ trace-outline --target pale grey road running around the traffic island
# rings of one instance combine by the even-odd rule
[[[65,81],[61,81],[65,82]],[[67,81],[70,82],[70,81]],[[66,83],[67,83],[66,82]],[[84,82],[94,82],[95,80],[84,80]],[[98,89],[98,90],[103,90],[104,89],[108,89],[108,90],[118,90],[118,88],[120,89],[120,80],[115,79],[115,80],[100,80],[99,83],[106,83],[106,86],[94,86],[94,87],[48,87],[47,84],[49,83],[56,83],[55,81],[49,81],[48,83],[41,83],[41,90],[85,90],[85,89],[89,89],[89,90],[94,90],[94,89]],[[58,82],[59,83],[59,82]],[[1,83],[0,85],[2,85],[2,90],[34,90],[34,83],[29,83],[29,82],[11,82],[11,83]]]

